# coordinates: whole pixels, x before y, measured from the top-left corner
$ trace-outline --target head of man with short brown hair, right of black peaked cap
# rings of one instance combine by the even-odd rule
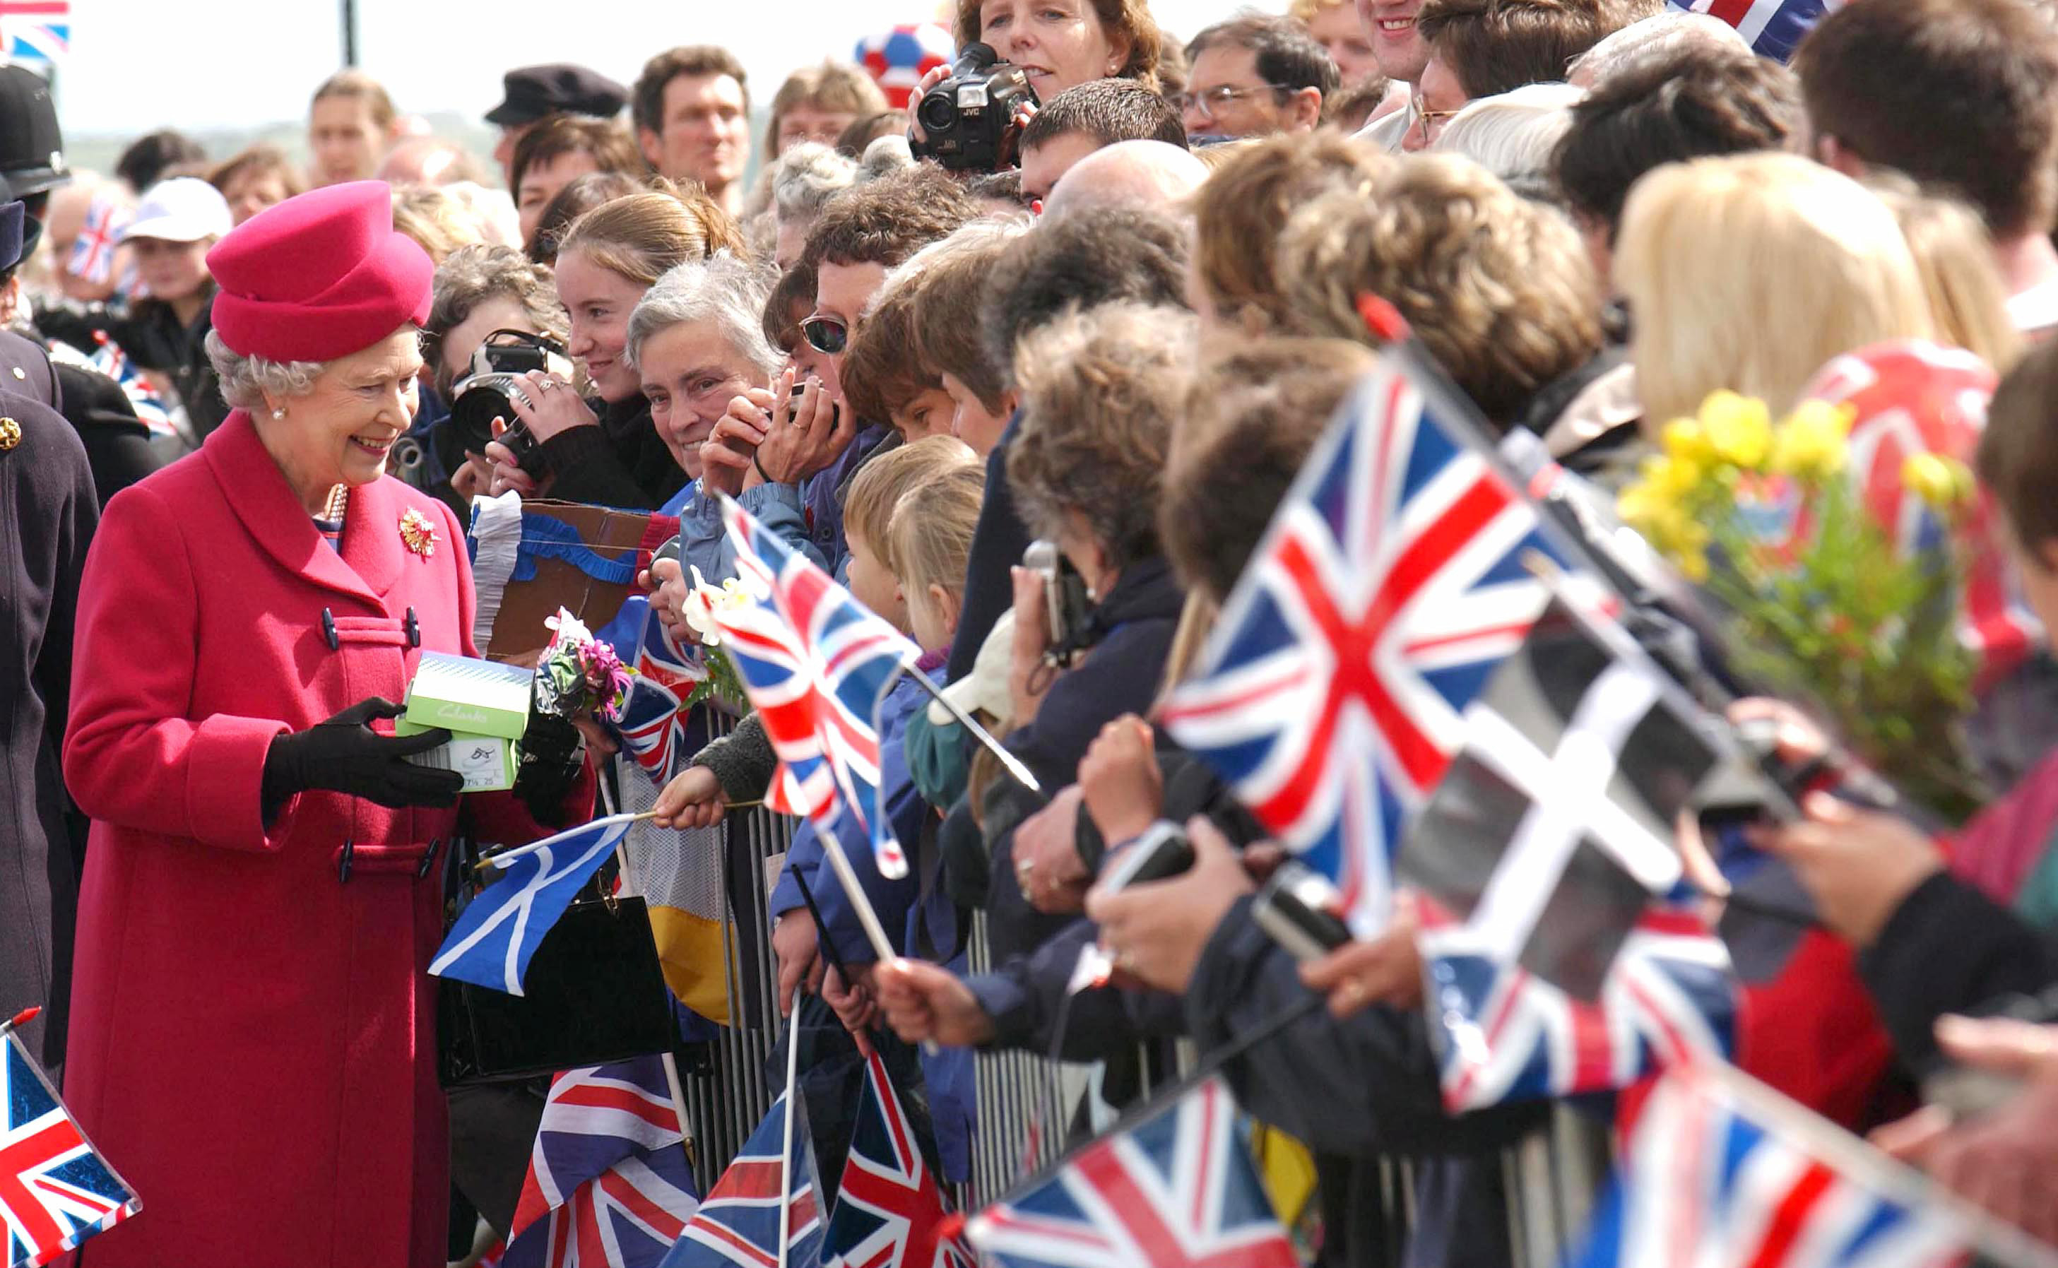
[[[751,93],[743,62],[698,43],[644,64],[632,101],[636,144],[663,177],[700,181],[731,216],[743,214],[751,165]]]

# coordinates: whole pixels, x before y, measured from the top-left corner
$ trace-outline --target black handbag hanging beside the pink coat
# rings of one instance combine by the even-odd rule
[[[679,1025],[640,897],[580,897],[537,945],[525,994],[442,978],[442,1087],[669,1052]]]

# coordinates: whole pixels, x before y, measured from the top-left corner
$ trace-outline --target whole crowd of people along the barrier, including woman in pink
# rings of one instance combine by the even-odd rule
[[[720,47],[634,84],[519,68],[490,161],[344,70],[309,169],[167,130],[105,177],[64,167],[47,89],[0,68],[0,1011],[45,1005],[25,1035],[144,1194],[93,1268],[442,1264],[471,1233],[449,1237],[453,1171],[506,1231],[529,1142],[459,1122],[453,1144],[436,1083],[438,860],[648,774],[582,718],[547,778],[461,797],[410,762],[445,735],[389,727],[422,653],[482,650],[465,539],[492,498],[675,519],[638,580],[689,646],[698,587],[737,576],[735,500],[1033,774],[903,681],[877,723],[908,875],[846,815],[770,877],[780,1009],[903,1050],[947,1179],[971,1052],[1099,1062],[1120,1110],[1175,1042],[1325,996],[1227,1075],[1313,1153],[1338,1266],[1393,1262],[1367,1198],[1391,1157],[1418,1163],[1401,1262],[1511,1262],[1498,1151],[1550,1103],[1445,1107],[1408,904],[1311,961],[1266,937],[1280,850],[1152,714],[1401,329],[1383,315],[1595,517],[1710,393],[1780,416],[1836,358],[1963,350],[2000,387],[1959,457],[2058,628],[2044,8],[1852,0],[1797,49],[1663,0],[1294,0],[1183,41],[1146,0],[957,0],[951,35],[1033,89],[986,171],[910,111],[949,66],[891,97],[801,68],[764,136]],[[482,418],[469,379],[506,352],[535,360]],[[1910,389],[1916,424],[1943,393]],[[2058,1031],[1961,1017],[2058,976],[2052,683],[2044,650],[1984,683],[1967,725],[2013,790],[1967,827],[1815,792],[1755,832],[1815,926],[1745,982],[1735,1062],[2058,1243]],[[720,832],[778,753],[749,718],[683,720],[704,747],[663,772],[657,825]],[[1097,887],[1161,821],[1192,869]],[[1078,990],[1093,945],[1115,972]],[[2019,1085],[1918,1112],[1951,1064]]]

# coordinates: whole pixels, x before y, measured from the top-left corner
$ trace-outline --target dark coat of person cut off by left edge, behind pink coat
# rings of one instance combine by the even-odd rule
[[[0,1017],[64,1058],[76,875],[58,739],[70,702],[78,578],[99,521],[86,451],[47,406],[0,391]],[[0,436],[4,443],[4,436]]]

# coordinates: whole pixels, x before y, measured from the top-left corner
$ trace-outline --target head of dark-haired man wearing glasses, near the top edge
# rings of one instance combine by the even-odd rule
[[[1216,23],[1185,45],[1185,60],[1187,136],[1313,132],[1338,89],[1336,62],[1284,16]]]

